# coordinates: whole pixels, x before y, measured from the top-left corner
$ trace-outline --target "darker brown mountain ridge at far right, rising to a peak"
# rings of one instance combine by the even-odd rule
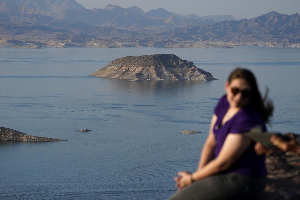
[[[187,32],[189,31],[193,35],[196,31],[197,37],[202,38],[202,41],[299,44],[300,15],[273,11],[249,20],[223,21],[208,26],[187,28]]]

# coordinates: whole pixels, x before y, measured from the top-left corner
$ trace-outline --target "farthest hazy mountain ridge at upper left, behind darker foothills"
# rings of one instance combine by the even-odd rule
[[[111,4],[108,4],[104,9],[94,8],[91,10],[85,9],[74,0],[0,0],[0,13],[2,19],[15,22],[27,21],[34,24],[42,24],[47,19],[48,23],[58,21],[84,22],[92,23],[97,26],[119,28],[165,26],[163,21],[173,14],[163,8],[144,13],[144,11],[137,6],[122,8],[118,5]],[[43,18],[44,20],[35,20],[36,14],[40,15],[39,18]],[[179,14],[173,15],[181,22],[168,24],[166,25],[167,27],[184,27],[189,25],[188,22],[184,21],[191,19],[191,17],[182,17]],[[218,22],[212,19],[217,19],[217,17],[213,16],[208,17],[210,19],[208,21],[202,20],[201,17],[195,14],[192,16],[192,19],[197,19],[193,24],[196,23],[197,25]],[[207,19],[207,17],[205,19]],[[218,19],[222,21],[222,17]]]

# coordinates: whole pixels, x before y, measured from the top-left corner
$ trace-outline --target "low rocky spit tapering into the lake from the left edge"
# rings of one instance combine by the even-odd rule
[[[0,127],[0,141],[29,141],[29,142],[59,142],[66,141],[53,138],[39,137],[35,135],[26,135],[10,128]]]

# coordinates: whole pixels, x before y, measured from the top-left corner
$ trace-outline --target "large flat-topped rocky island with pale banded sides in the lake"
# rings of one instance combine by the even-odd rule
[[[117,58],[107,66],[90,74],[103,78],[139,80],[217,80],[212,74],[197,68],[173,54],[127,56]]]

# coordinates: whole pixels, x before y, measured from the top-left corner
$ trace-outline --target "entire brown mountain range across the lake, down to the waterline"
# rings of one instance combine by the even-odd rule
[[[74,0],[0,0],[6,47],[300,47],[299,33],[297,13],[234,20],[111,4],[86,9]]]

